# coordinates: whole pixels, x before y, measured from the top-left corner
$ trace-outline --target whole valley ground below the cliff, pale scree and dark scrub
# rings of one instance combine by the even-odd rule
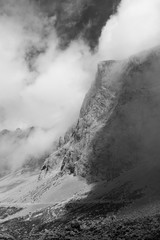
[[[0,239],[160,239],[160,200],[128,177],[88,185],[72,175],[22,176],[0,181]]]

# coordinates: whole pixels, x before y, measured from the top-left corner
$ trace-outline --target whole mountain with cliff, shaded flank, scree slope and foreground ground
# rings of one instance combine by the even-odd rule
[[[4,239],[160,238],[159,66],[159,47],[99,63],[40,175],[1,180]]]

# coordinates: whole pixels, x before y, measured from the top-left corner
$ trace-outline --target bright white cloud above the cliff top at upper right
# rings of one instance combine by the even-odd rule
[[[122,59],[160,44],[160,1],[122,0],[99,39],[103,59]]]

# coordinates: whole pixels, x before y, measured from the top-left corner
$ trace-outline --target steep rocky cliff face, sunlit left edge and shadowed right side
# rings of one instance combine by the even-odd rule
[[[100,63],[77,125],[46,163],[62,162],[62,172],[88,181],[111,180],[137,164],[158,163],[159,66],[159,49]]]

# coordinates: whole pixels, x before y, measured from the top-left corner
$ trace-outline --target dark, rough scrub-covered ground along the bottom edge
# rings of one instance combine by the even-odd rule
[[[158,240],[160,239],[160,215],[135,219],[120,219],[116,204],[68,204],[57,209],[57,219],[51,220],[45,213],[37,216],[16,218],[0,225],[0,239],[48,240]],[[51,208],[48,208],[51,212]],[[111,212],[112,210],[112,212]],[[110,213],[110,214],[108,214]],[[114,215],[113,215],[114,213]],[[41,216],[41,217],[40,217]]]

